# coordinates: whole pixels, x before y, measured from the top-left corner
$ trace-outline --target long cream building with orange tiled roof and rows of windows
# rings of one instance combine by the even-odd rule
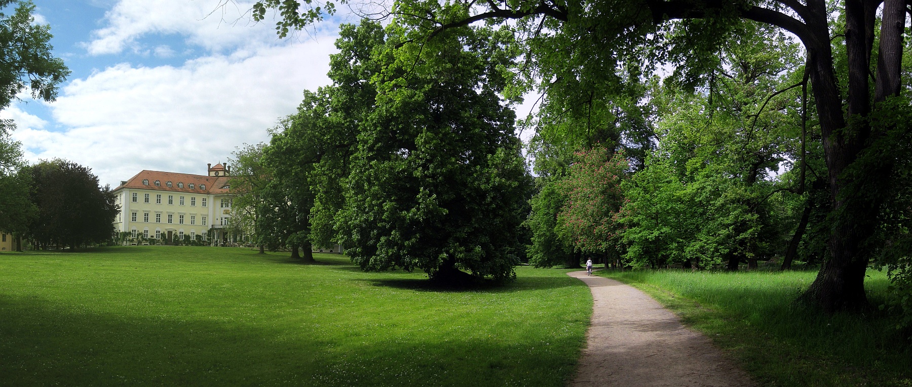
[[[221,163],[209,164],[207,175],[143,170],[114,189],[120,206],[114,228],[131,239],[228,242],[229,174]]]

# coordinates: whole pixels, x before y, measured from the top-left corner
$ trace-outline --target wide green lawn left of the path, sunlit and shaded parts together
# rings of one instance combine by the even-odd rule
[[[452,291],[286,254],[0,254],[0,384],[560,386],[575,372],[592,298],[567,270]]]

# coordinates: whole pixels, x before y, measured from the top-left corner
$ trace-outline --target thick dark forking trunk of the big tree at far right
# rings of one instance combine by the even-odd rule
[[[829,38],[829,33],[825,30],[825,5],[822,1],[809,2],[808,5],[814,11],[814,18],[808,20],[807,24],[820,41],[809,46],[809,55],[813,64],[811,80],[817,114],[824,137],[832,209],[835,213],[849,215],[852,220],[846,221],[844,216],[842,221],[837,221],[834,225],[829,241],[830,259],[824,262],[816,280],[802,295],[802,300],[827,312],[861,310],[867,308],[868,303],[864,289],[867,256],[860,247],[871,236],[876,222],[876,212],[865,208],[870,209],[876,203],[863,206],[858,201],[845,200],[842,194],[850,182],[845,181],[842,174],[864,148],[870,127],[864,122],[856,121],[850,130],[845,130],[842,98],[834,76],[832,49],[821,39],[824,36],[827,40]],[[870,103],[867,88],[869,54],[865,53],[865,39],[868,36],[865,32],[865,5],[861,0],[846,1],[845,16],[849,59],[848,113],[850,117],[866,117]],[[806,46],[807,43],[805,42]]]

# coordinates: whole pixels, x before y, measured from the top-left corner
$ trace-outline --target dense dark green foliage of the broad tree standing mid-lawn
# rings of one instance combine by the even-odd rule
[[[530,181],[499,97],[503,34],[463,28],[416,50],[397,47],[398,28],[373,48],[383,70],[351,156],[339,238],[365,270],[511,279]]]

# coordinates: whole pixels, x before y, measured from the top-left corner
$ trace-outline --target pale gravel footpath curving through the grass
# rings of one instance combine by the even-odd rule
[[[594,300],[586,349],[572,387],[756,386],[702,334],[630,285],[586,271]]]

